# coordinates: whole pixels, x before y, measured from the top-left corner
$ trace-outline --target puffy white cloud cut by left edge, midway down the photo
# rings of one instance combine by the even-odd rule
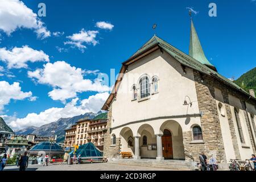
[[[14,82],[10,85],[9,82],[0,81],[0,113],[3,107],[9,104],[10,100],[24,100],[30,99],[32,92],[22,92],[19,82]]]

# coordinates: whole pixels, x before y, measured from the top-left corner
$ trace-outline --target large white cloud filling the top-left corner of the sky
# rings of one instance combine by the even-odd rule
[[[18,28],[35,30],[38,38],[42,39],[51,36],[51,32],[47,30],[43,22],[22,1],[1,0],[0,29],[10,36]]]

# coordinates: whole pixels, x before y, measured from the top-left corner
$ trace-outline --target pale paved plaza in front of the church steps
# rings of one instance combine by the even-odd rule
[[[16,166],[6,166],[4,171],[18,171]],[[142,166],[128,166],[111,163],[88,163],[88,164],[51,164],[42,166],[38,164],[28,165],[27,171],[168,171],[166,168],[153,168]]]

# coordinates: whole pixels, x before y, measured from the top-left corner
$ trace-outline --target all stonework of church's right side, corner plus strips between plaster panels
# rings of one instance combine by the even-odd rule
[[[229,121],[230,133],[232,135],[232,142],[234,147],[234,152],[237,159],[241,159],[240,151],[238,148],[238,142],[236,137],[236,132],[234,128],[234,119],[232,118],[231,107],[229,104],[229,94],[240,99],[241,103],[244,103],[248,97],[245,94],[238,92],[236,89],[231,88],[228,85],[225,85],[223,82],[217,80],[214,77],[207,75],[200,75],[199,72],[194,71],[195,77],[195,86],[197,92],[197,101],[199,104],[199,110],[204,112],[204,116],[201,117],[201,127],[203,132],[203,140],[202,143],[191,143],[192,141],[192,133],[184,132],[184,147],[185,154],[193,156],[196,160],[198,159],[198,153],[200,151],[204,151],[207,156],[210,154],[215,154],[218,162],[224,162],[226,160],[224,143],[222,140],[221,134],[221,126],[218,118],[218,111],[216,100],[214,96],[214,88],[221,90],[222,96],[224,98],[226,114]],[[201,81],[203,80],[203,82]],[[247,101],[250,104],[256,106],[254,101]],[[243,112],[246,118],[246,124],[249,129],[249,135],[251,139],[251,144],[253,146],[253,151],[255,152],[255,147],[253,143],[253,138],[251,135],[249,121],[246,116],[245,104],[243,105]],[[188,156],[186,156],[186,160],[191,160]]]

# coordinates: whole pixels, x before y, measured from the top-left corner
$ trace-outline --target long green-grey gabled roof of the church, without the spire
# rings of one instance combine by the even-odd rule
[[[200,63],[200,61],[194,59],[193,57],[187,55],[186,53],[180,51],[179,49],[175,48],[174,46],[171,46],[171,44],[168,44],[163,39],[160,39],[158,36],[154,35],[146,44],[144,44],[137,52],[133,54],[127,61],[122,63],[122,68],[119,73],[125,73],[126,67],[129,64],[134,63],[135,61],[139,60],[141,57],[146,56],[148,53],[154,52],[156,49],[162,49],[166,51],[170,56],[174,57],[181,65],[184,65],[185,67],[194,69],[196,71],[199,71],[200,73],[203,73],[205,75],[213,76],[217,80],[220,80],[224,82],[224,84],[231,86],[234,89],[239,90],[243,94],[246,94],[247,96],[250,96],[249,93],[247,93],[245,90],[243,90],[240,86],[235,84],[233,81],[230,81],[228,78],[220,75],[217,73],[217,71],[214,71],[213,69],[209,68],[207,65]],[[102,107],[102,110],[107,110],[112,102],[115,93],[117,92],[117,88],[119,83],[122,80],[122,75],[118,76],[117,81],[115,81],[115,86],[112,90],[112,93],[110,94],[109,98],[106,100],[104,106]],[[253,98],[255,101],[256,99]]]

